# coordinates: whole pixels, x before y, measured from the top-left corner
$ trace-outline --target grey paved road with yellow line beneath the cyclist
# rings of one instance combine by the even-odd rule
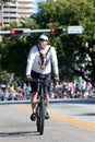
[[[49,113],[38,135],[31,104],[0,105],[0,142],[95,142],[95,104],[50,103]]]

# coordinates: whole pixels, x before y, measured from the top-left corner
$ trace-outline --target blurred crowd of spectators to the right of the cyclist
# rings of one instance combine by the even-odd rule
[[[95,87],[90,82],[61,82],[51,92],[52,98],[93,98],[95,97]]]

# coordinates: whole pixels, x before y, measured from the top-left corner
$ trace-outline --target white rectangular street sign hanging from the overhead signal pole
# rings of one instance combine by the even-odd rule
[[[68,34],[82,34],[83,29],[82,26],[68,26]]]

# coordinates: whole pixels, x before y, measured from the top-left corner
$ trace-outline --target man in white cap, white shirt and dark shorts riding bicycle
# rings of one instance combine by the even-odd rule
[[[59,80],[58,59],[56,50],[50,46],[49,39],[46,35],[40,35],[38,44],[33,46],[29,50],[26,64],[26,79],[27,81],[33,79],[43,79],[45,82],[51,80],[51,70],[54,70],[55,79]],[[46,115],[45,118],[49,118],[48,114],[48,84],[45,86],[45,99],[46,99]],[[38,83],[32,82],[32,115],[31,120],[36,119],[36,102],[38,95]]]

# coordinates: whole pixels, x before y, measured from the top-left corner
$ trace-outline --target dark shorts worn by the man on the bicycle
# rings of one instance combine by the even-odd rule
[[[35,71],[32,71],[32,78],[33,79],[40,79],[40,80],[45,81],[44,93],[49,93],[50,84],[47,81],[51,80],[51,74],[50,73],[40,74],[40,73],[37,73]],[[38,83],[37,82],[32,82],[32,92],[38,92],[38,91],[39,91]]]

